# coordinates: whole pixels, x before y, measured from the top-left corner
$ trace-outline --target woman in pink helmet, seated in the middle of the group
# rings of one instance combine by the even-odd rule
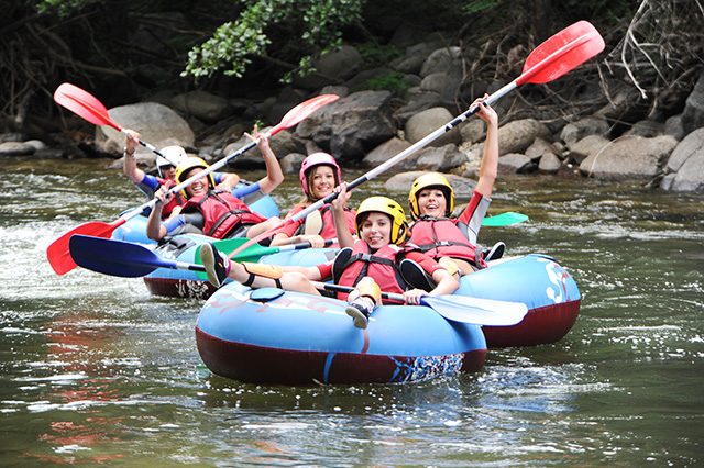
[[[301,212],[332,193],[342,181],[340,166],[328,153],[312,153],[300,165],[298,172],[304,198],[286,215],[286,219]],[[312,247],[322,247],[324,241],[337,237],[332,207],[322,205],[297,223],[287,225],[276,233],[272,245],[284,245],[300,242],[310,242]],[[355,232],[355,211],[344,207],[344,222],[350,233]]]

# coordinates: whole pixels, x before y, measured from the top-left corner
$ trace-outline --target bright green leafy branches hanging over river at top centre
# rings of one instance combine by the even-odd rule
[[[235,21],[222,24],[213,36],[188,54],[183,76],[212,77],[226,68],[226,75],[241,77],[252,57],[270,54],[272,37],[278,30],[288,46],[297,48],[295,71],[305,70],[310,55],[341,41],[341,27],[361,18],[365,0],[256,0],[248,2]]]

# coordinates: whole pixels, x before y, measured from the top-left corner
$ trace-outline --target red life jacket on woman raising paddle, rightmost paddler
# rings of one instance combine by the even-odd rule
[[[410,226],[410,242],[424,254],[438,259],[453,257],[466,260],[479,268],[485,268],[486,263],[476,260],[476,247],[455,222],[449,218],[420,216]]]

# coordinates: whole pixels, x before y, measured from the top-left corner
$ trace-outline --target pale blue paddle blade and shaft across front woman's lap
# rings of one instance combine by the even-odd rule
[[[351,292],[349,286],[311,281],[317,289]],[[403,294],[382,292],[382,298],[404,301]],[[470,298],[466,296],[424,296],[420,303],[438,312],[452,322],[475,325],[509,326],[519,323],[528,313],[528,307],[521,302],[496,301],[493,299]]]

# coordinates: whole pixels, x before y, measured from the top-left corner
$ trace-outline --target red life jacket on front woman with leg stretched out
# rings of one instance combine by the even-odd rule
[[[342,249],[340,254],[345,250],[350,252]],[[370,276],[384,292],[403,293],[408,289],[400,276],[398,263],[404,259],[406,253],[416,250],[414,246],[399,247],[388,244],[372,254],[366,242],[356,241],[351,250],[346,261],[342,255],[336,258],[332,276],[337,285],[355,286],[362,278]],[[345,292],[338,293],[339,299],[344,300],[346,297]]]

